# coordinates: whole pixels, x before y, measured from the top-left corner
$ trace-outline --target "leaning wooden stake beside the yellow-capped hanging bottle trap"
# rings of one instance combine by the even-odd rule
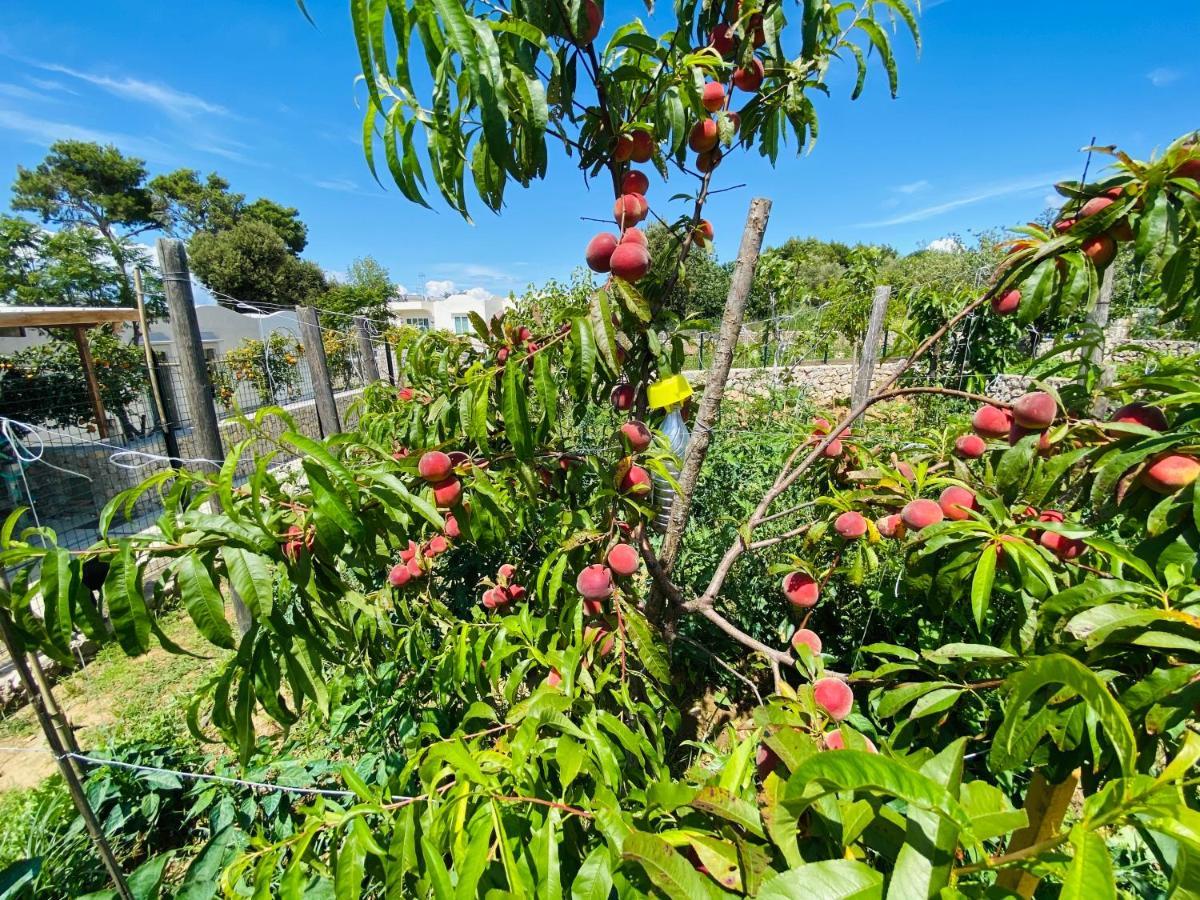
[[[671,520],[662,539],[659,562],[666,574],[671,572],[676,556],[683,544],[683,529],[691,512],[691,496],[700,480],[700,469],[708,455],[708,445],[713,439],[713,425],[725,397],[725,383],[733,366],[733,354],[737,350],[738,337],[742,335],[742,320],[745,318],[746,301],[754,284],[754,271],[758,265],[758,252],[762,250],[762,238],[767,232],[767,218],[770,216],[770,200],[757,197],[750,202],[746,226],[742,232],[742,246],[733,265],[733,277],[730,293],[725,300],[725,312],[721,314],[721,331],[713,352],[713,367],[704,379],[704,394],[696,410],[696,421],[691,430],[691,442],[683,457],[679,473],[679,491],[671,505]],[[655,592],[658,594],[658,592]],[[656,601],[658,602],[658,601]]]

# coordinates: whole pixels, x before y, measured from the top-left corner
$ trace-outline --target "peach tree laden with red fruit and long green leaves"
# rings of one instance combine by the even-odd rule
[[[332,716],[347,673],[379,684],[384,762],[348,762],[353,798],[298,809],[282,840],[252,839],[226,894],[1030,896],[1049,878],[1068,896],[1115,896],[1105,840],[1117,829],[1139,835],[1176,892],[1195,890],[1194,367],[1106,389],[1128,401],[1114,416],[1062,380],[1086,354],[1014,402],[911,379],[971,317],[1090,307],[1118,244],[1164,318],[1192,326],[1194,140],[1061,185],[1057,227],[1027,229],[986,290],[864,403],[814,421],[692,587],[673,572],[764,206],[683,458],[647,403],[684,355],[660,298],[710,238],[701,214],[720,158],[774,158],[785,132],[803,143],[805,92],[823,89],[827,66],[845,56],[865,72],[854,35],[894,86],[886,25],[889,13],[911,24],[907,7],[682,2],[662,35],[631,22],[602,52],[602,8],[588,0],[352,10],[368,157],[378,139],[406,196],[424,199],[427,168],[466,211],[469,168],[498,208],[557,139],[586,174],[607,173],[620,232],[590,242],[589,265],[613,277],[564,322],[409,336],[404,385],[370,386],[352,431],[318,442],[260,409],[220,472],[164,472],[106,509],[107,533],[157,493],[164,512],[148,533],[73,553],[47,529],[18,530],[19,514],[6,522],[4,606],[22,638],[60,658],[77,628],[133,655],[172,649],[157,611],[178,600],[230,652],[190,724],[244,761],[270,751],[264,716],[284,730]],[[634,161],[696,178],[690,215],[668,222],[680,256],[658,265],[636,236],[649,176]],[[906,458],[854,434],[874,409],[923,400],[977,403],[971,433],[964,422]],[[820,500],[802,500],[802,485]],[[664,486],[678,494],[668,515]],[[764,553],[781,576],[779,624],[791,623],[780,647],[720,607],[739,563]],[[866,665],[839,671],[810,616],[832,584],[894,558],[904,600],[949,641],[864,647]],[[91,560],[106,570],[95,590]],[[223,592],[244,601],[244,628]],[[722,665],[770,684],[720,744],[684,739],[685,620],[744,649]]]

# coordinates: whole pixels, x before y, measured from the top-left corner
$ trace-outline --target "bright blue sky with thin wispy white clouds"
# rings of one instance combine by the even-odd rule
[[[409,289],[454,282],[497,293],[582,264],[611,200],[552,156],[546,181],[510,187],[475,224],[407,203],[371,179],[360,146],[358,58],[344,0],[10,0],[0,5],[0,184],[56,138],[112,142],[152,173],[216,169],[235,190],[300,209],[306,256],[335,272],[372,254]],[[708,208],[731,257],[751,196],[774,200],[768,244],[792,235],[901,251],[1036,216],[1050,184],[1078,175],[1093,136],[1148,155],[1200,125],[1200,5],[926,2],[919,58],[896,41],[900,98],[878,68],[818,100],[821,139],[775,170],[731,158]],[[644,12],[610,0],[608,19]],[[607,31],[607,26],[606,26]],[[690,187],[690,186],[686,186]],[[652,185],[664,203],[685,186]],[[673,210],[672,210],[673,211]],[[670,216],[666,216],[670,217]]]

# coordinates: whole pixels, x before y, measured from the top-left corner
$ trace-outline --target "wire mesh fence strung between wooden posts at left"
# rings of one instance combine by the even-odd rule
[[[322,331],[346,425],[350,404],[368,380],[366,366],[350,332],[337,326]],[[260,358],[236,350],[208,360],[222,444],[228,449],[248,437],[240,416],[266,406],[282,407],[298,431],[320,438],[317,385],[304,348],[292,340],[286,353],[272,358],[272,342],[259,343],[266,349]],[[373,341],[372,348],[377,370],[386,377],[390,360],[382,354],[388,348],[382,341]],[[25,524],[52,528],[61,546],[79,550],[98,540],[108,502],[149,475],[172,466],[221,463],[203,458],[182,372],[170,355],[156,353],[152,373],[140,353],[95,359],[103,409],[98,415],[79,373],[14,370],[0,370],[0,378],[14,379],[0,391],[0,516],[26,508],[31,522]],[[270,428],[278,434],[284,426],[271,422]],[[239,480],[248,478],[256,456],[269,446],[260,440],[244,454]],[[288,461],[277,455],[272,464]],[[157,494],[148,492],[113,517],[109,534],[143,530],[161,510]]]

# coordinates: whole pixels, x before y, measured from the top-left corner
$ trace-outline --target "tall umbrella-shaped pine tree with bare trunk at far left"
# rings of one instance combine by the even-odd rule
[[[120,270],[121,305],[133,306],[127,240],[163,224],[145,180],[145,163],[113,145],[56,140],[35,168],[17,167],[12,206],[59,227],[95,228]]]

